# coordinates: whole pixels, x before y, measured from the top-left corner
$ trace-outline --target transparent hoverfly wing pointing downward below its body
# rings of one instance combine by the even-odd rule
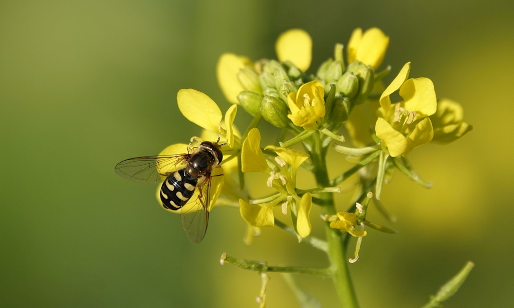
[[[182,211],[182,227],[193,244],[204,239],[209,222],[209,195],[211,193],[211,177],[205,177],[196,185],[197,192],[191,198],[192,206],[184,206]],[[194,198],[194,200],[193,200]]]

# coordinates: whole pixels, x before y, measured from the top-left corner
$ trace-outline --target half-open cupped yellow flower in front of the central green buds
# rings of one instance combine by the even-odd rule
[[[291,110],[287,117],[296,126],[316,130],[316,121],[325,115],[324,95],[323,85],[317,80],[302,85],[296,94],[291,92],[287,96],[287,104]]]

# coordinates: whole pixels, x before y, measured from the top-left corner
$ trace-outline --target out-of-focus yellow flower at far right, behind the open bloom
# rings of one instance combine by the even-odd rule
[[[473,127],[463,122],[463,119],[464,111],[460,104],[448,99],[437,102],[437,111],[430,116],[434,125],[432,142],[447,144],[470,132]]]

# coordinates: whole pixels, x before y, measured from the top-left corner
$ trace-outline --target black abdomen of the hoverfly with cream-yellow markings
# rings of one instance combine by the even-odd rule
[[[186,168],[180,169],[169,175],[161,186],[162,206],[167,209],[177,210],[186,205],[193,196],[198,179],[189,176]]]

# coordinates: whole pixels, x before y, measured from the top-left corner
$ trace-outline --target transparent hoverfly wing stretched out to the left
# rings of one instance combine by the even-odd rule
[[[142,156],[124,160],[114,168],[123,179],[137,183],[156,183],[162,181],[171,172],[185,166],[189,154]]]

